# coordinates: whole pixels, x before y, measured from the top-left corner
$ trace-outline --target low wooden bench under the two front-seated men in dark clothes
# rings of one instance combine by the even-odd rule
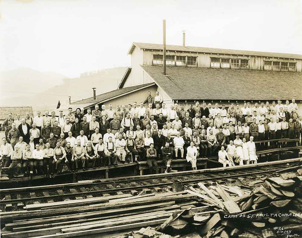
[[[140,175],[144,174],[144,170],[149,170],[147,161],[140,161],[138,162],[138,169],[140,170]],[[164,173],[166,167],[165,164],[162,160],[157,160],[157,165],[159,168],[159,172],[160,173]],[[197,158],[196,161],[196,165],[197,166],[203,166],[204,169],[207,168],[207,158]],[[172,164],[171,164],[171,168],[177,168],[177,167],[182,167],[183,171],[186,170],[186,167],[192,167],[190,162],[187,162],[186,159],[173,159],[172,160]]]

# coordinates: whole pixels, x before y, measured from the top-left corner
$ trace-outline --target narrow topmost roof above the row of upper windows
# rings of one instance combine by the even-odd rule
[[[149,44],[133,42],[128,54],[131,55],[134,48],[150,49],[150,50],[162,50],[161,44]],[[185,52],[199,52],[199,53],[216,53],[216,54],[228,54],[228,55],[255,55],[265,57],[280,57],[280,58],[293,58],[302,59],[302,55],[286,54],[286,53],[274,53],[274,52],[261,52],[261,51],[247,51],[247,50],[230,50],[230,49],[218,49],[207,47],[195,47],[195,46],[182,46],[182,45],[166,45],[166,50],[171,51],[185,51]]]

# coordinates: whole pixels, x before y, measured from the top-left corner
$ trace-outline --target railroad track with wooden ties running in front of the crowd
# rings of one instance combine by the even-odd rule
[[[181,180],[183,185],[196,187],[199,182],[210,186],[217,182],[230,185],[240,182],[244,188],[262,183],[260,178],[276,175],[286,170],[300,158],[266,163],[242,165],[236,167],[193,170],[169,174],[153,174],[102,180],[85,180],[78,183],[66,183],[37,187],[21,187],[0,190],[0,206],[2,211],[23,210],[26,205],[35,203],[51,203],[64,200],[77,200],[93,197],[106,197],[131,193],[161,193],[172,190],[173,180]],[[289,164],[289,165],[287,165]],[[242,178],[242,179],[241,179]],[[245,180],[249,179],[249,180]],[[251,183],[251,184],[246,184]],[[127,195],[126,195],[127,196]]]

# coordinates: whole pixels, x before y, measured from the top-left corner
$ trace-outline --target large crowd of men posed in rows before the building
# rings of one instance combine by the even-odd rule
[[[148,103],[148,107],[144,106]],[[192,169],[197,169],[197,157],[217,156],[223,166],[256,163],[257,150],[268,148],[267,143],[255,146],[255,141],[279,138],[300,138],[302,116],[297,114],[298,106],[261,102],[251,106],[232,103],[225,105],[203,102],[188,105],[188,109],[175,103],[167,108],[162,97],[156,92],[153,98],[148,92],[145,101],[133,105],[103,104],[101,110],[77,108],[72,113],[59,117],[53,111],[46,111],[32,118],[27,112],[25,118],[12,118],[12,113],[1,125],[5,131],[0,147],[2,166],[9,167],[11,174],[21,170],[32,174],[53,174],[60,165],[69,170],[92,167],[117,166],[117,163],[146,160],[150,173],[158,173],[157,160],[162,159],[166,173],[170,171],[174,158],[187,159]],[[271,147],[277,144],[270,143]],[[219,150],[219,151],[218,151]],[[48,166],[47,166],[48,165]]]

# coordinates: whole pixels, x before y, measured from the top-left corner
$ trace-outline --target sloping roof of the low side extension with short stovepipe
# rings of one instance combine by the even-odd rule
[[[100,94],[100,95],[96,96],[96,99],[93,99],[93,97],[87,98],[87,99],[84,99],[81,101],[73,102],[72,104],[77,104],[77,105],[79,105],[79,107],[85,108],[85,106],[82,106],[80,104],[85,104],[87,106],[93,105],[93,104],[103,102],[103,101],[111,99],[111,98],[120,97],[120,96],[122,96],[122,94],[127,94],[127,93],[130,93],[132,91],[135,91],[135,90],[138,90],[141,88],[149,87],[151,85],[154,85],[154,83],[152,82],[152,83],[147,83],[147,84],[140,84],[140,85],[135,85],[135,86],[131,86],[131,87],[121,88],[121,89],[117,89],[114,91],[110,91],[108,93]]]

